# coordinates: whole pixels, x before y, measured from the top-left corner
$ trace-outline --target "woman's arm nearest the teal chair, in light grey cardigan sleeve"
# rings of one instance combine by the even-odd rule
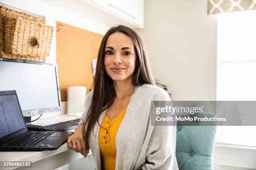
[[[157,90],[154,101],[171,101],[169,94],[164,90]],[[146,150],[146,162],[142,170],[174,170],[176,163],[176,128],[169,126],[152,126],[151,113],[148,118],[149,142]],[[176,166],[175,166],[176,167]]]

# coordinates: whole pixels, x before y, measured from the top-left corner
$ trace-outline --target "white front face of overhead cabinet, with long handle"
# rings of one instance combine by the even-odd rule
[[[138,28],[144,26],[144,0],[86,0]]]

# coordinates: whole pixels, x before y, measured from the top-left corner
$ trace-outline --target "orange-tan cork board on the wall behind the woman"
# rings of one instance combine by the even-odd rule
[[[92,88],[92,59],[97,57],[103,36],[56,22],[56,62],[61,101],[67,101],[67,87]]]

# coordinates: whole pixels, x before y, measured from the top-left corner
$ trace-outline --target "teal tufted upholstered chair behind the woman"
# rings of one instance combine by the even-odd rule
[[[176,159],[179,170],[213,170],[216,128],[215,125],[183,126],[177,122]]]

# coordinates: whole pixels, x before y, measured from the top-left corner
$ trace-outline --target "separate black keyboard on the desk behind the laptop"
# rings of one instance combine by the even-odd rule
[[[80,119],[59,122],[39,128],[29,128],[29,131],[68,131],[77,128]]]

